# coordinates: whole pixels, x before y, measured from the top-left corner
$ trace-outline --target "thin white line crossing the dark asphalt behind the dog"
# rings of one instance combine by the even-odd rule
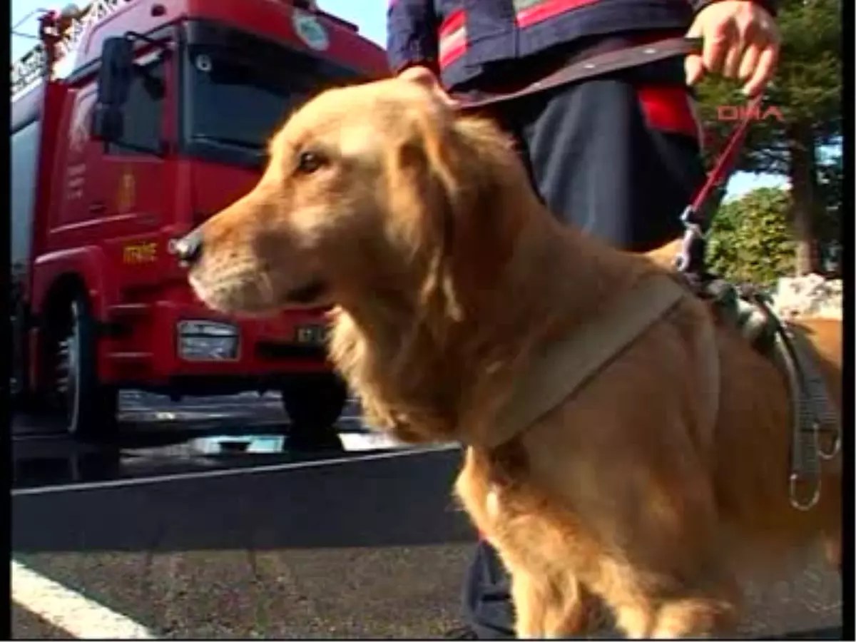
[[[235,477],[235,475],[250,475],[254,473],[276,473],[284,470],[297,470],[300,468],[318,468],[322,466],[350,464],[355,461],[375,461],[382,459],[392,459],[393,457],[425,455],[426,453],[444,452],[446,450],[456,450],[460,448],[461,446],[457,443],[444,443],[439,446],[401,449],[384,453],[372,453],[372,455],[354,455],[353,457],[339,457],[336,459],[327,460],[294,461],[286,464],[271,464],[270,466],[222,468],[211,471],[196,471],[193,473],[173,473],[169,475],[140,477],[135,479],[112,479],[110,481],[92,482],[84,484],[62,484],[56,486],[42,486],[36,488],[19,488],[11,490],[9,492],[9,495],[13,497],[26,495],[47,495],[49,493],[68,492],[72,490],[94,490],[100,488],[122,488],[126,486],[160,484],[162,482],[181,481],[184,479],[213,479],[217,477]]]

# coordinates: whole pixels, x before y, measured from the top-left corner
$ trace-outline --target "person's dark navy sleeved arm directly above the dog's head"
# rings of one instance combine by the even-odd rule
[[[386,51],[394,74],[415,66],[437,73],[438,27],[432,0],[389,0]]]

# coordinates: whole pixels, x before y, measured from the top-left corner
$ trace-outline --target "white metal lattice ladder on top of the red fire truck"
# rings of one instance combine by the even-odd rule
[[[39,80],[53,80],[55,65],[77,49],[86,27],[134,0],[98,0],[78,9],[69,4],[62,11],[39,16],[39,44],[11,65],[11,98],[26,92]]]

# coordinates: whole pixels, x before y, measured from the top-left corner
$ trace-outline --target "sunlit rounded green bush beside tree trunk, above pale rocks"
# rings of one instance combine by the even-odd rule
[[[710,271],[735,282],[763,286],[787,276],[794,266],[791,206],[788,191],[774,187],[725,202],[710,227]]]

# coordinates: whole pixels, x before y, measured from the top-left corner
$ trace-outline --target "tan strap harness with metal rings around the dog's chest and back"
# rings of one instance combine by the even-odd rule
[[[798,510],[813,508],[820,499],[822,460],[841,451],[841,419],[817,367],[811,344],[770,308],[766,295],[754,288],[712,278],[702,284],[681,282],[681,276],[648,276],[617,297],[597,318],[561,341],[546,346],[518,379],[508,400],[496,413],[488,449],[515,435],[579,392],[598,372],[619,357],[657,320],[687,295],[707,300],[715,318],[731,324],[760,354],[772,360],[788,381],[792,401],[790,501]],[[713,330],[712,324],[710,330]],[[710,347],[715,344],[710,334]],[[720,394],[716,349],[705,355],[704,390],[710,416],[716,418]],[[824,449],[823,435],[831,435]]]

